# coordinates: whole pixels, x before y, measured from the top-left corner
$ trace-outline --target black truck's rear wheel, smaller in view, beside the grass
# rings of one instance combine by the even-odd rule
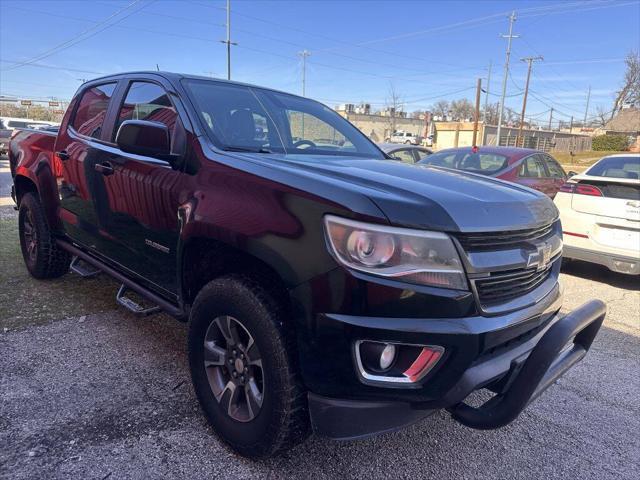
[[[69,271],[71,255],[56,244],[35,193],[25,193],[20,200],[18,232],[22,257],[31,275],[58,278]]]

